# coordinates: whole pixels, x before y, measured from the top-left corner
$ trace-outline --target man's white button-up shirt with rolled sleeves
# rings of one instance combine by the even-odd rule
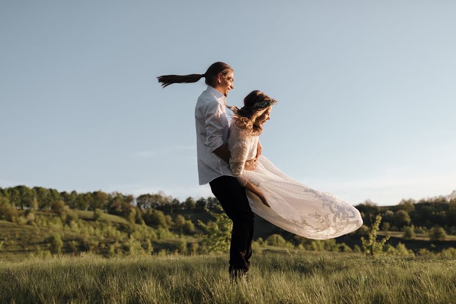
[[[198,97],[195,106],[197,134],[198,177],[200,185],[213,179],[233,176],[230,165],[213,151],[226,144],[230,126],[226,118],[226,97],[211,86]]]

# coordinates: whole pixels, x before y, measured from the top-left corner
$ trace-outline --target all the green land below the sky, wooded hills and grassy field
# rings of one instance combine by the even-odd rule
[[[456,199],[356,207],[364,225],[330,240],[256,216],[233,283],[214,198],[0,188],[0,303],[454,303]]]

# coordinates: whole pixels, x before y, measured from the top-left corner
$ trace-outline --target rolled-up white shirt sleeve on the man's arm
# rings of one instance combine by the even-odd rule
[[[206,142],[205,145],[213,152],[223,145],[223,127],[222,115],[225,115],[220,109],[218,102],[208,102],[203,108],[203,116],[206,124]]]

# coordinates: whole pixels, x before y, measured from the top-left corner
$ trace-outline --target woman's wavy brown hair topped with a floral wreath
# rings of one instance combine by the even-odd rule
[[[263,128],[255,126],[253,123],[261,116],[265,109],[269,106],[276,104],[277,100],[269,97],[259,90],[250,92],[244,98],[244,106],[238,108],[237,106],[226,106],[233,111],[231,118],[240,128],[246,129],[251,136],[260,135]]]

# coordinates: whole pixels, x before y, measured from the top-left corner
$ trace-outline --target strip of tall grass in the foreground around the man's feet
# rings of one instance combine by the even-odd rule
[[[227,254],[55,256],[0,262],[0,302],[451,303],[456,260],[343,253],[255,253],[231,284]]]

